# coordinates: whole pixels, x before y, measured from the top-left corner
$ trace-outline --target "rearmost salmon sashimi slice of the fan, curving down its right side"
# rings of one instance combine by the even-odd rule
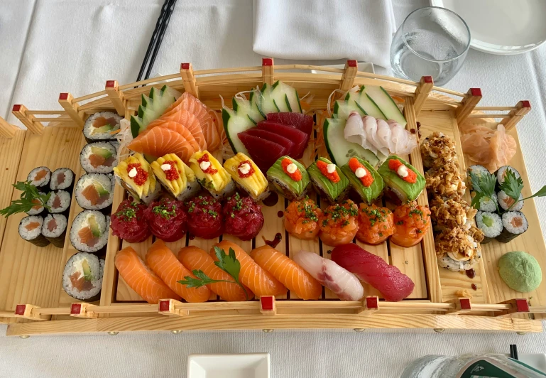
[[[199,99],[190,95],[190,93],[184,92],[178,100],[165,110],[165,113],[161,117],[171,117],[180,110],[187,110],[197,118],[197,121],[201,125],[204,139],[207,141],[207,149],[209,151],[215,151],[222,147],[222,139],[220,139],[220,134],[218,133],[218,121],[214,121],[217,117],[211,117],[211,112],[214,112],[212,109],[209,109]]]

